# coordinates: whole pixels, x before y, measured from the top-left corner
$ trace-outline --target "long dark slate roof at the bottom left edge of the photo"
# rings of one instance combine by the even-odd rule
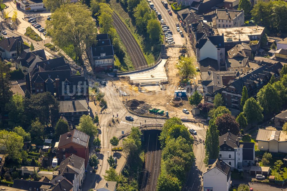
[[[18,189],[28,190],[28,191],[30,188],[32,188],[32,190],[36,189],[39,191],[42,185],[49,186],[49,188],[53,186],[53,184],[49,182],[38,182],[38,181],[33,181],[33,180],[15,179],[13,182],[13,188],[18,188]]]

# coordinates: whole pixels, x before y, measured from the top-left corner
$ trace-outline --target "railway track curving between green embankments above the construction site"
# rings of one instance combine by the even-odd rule
[[[137,69],[138,67],[148,65],[139,44],[137,44],[137,41],[127,29],[127,26],[121,21],[115,12],[113,13],[113,25],[115,26],[123,44],[127,48],[127,52],[131,57],[134,67]]]

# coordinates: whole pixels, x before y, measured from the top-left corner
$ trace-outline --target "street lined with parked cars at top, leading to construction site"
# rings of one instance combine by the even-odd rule
[[[152,3],[154,4],[156,11],[158,11],[162,15],[162,19],[164,20],[166,25],[169,26],[170,31],[172,31],[174,43],[185,44],[185,38],[181,37],[179,32],[177,32],[177,27],[175,26],[175,24],[179,23],[177,19],[177,14],[171,10],[170,5],[168,5],[169,8],[166,8],[162,5],[160,0],[152,0]],[[167,9],[170,9],[172,11],[172,15],[168,14]],[[181,31],[183,31],[183,28],[181,26],[180,29]]]

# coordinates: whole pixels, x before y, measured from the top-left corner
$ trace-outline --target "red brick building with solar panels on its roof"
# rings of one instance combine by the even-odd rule
[[[89,161],[89,138],[86,133],[73,129],[60,136],[59,144],[56,149],[57,158],[60,161],[69,158],[71,155],[77,155],[85,159],[85,167]]]

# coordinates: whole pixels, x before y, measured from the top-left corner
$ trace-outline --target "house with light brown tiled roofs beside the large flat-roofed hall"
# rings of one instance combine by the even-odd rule
[[[228,58],[235,57],[248,57],[248,60],[252,59],[251,48],[248,44],[242,42],[241,44],[236,44],[233,48],[227,51]]]

